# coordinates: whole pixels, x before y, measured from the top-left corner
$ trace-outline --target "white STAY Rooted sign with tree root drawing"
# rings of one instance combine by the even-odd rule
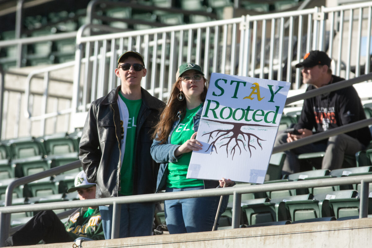
[[[212,73],[187,178],[263,183],[289,87]]]

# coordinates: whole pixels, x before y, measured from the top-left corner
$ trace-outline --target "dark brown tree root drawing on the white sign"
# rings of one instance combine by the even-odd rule
[[[230,147],[229,145],[232,145],[230,155],[232,156],[232,159],[233,159],[235,152],[239,151],[239,154],[241,154],[242,152],[241,147],[243,146],[244,150],[249,151],[250,157],[252,157],[252,149],[256,150],[256,146],[258,145],[262,150],[262,145],[260,142],[266,141],[265,139],[259,138],[254,133],[249,133],[249,132],[247,133],[241,130],[243,126],[264,126],[264,125],[247,124],[247,123],[232,123],[232,122],[223,122],[219,120],[208,120],[208,121],[232,125],[232,128],[231,129],[217,129],[217,130],[213,130],[211,132],[202,134],[202,136],[208,135],[208,141],[207,141],[208,143],[210,140],[213,140],[209,144],[205,152],[211,149],[211,153],[213,151],[217,153],[218,145],[219,145],[218,148],[221,148],[222,146],[226,146],[226,153],[228,157],[229,147]],[[255,141],[257,144],[255,144]],[[223,142],[223,144],[221,144],[220,142]]]

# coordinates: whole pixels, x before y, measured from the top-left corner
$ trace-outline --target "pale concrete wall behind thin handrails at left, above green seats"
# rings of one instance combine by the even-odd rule
[[[0,121],[3,122],[1,139],[29,136],[30,122],[25,117],[23,106],[25,102],[24,92],[26,78],[31,71],[43,67],[45,66],[14,68],[6,72],[4,76],[4,87],[7,94],[4,97],[4,113],[3,116],[0,117]],[[42,74],[41,76],[43,77]],[[73,67],[54,71],[49,75],[49,78],[51,78],[48,90],[49,94],[62,98],[57,103],[57,98],[50,97],[47,103],[47,113],[71,107],[71,98],[73,95]],[[30,91],[32,93],[42,94],[44,92],[43,79],[40,77],[33,78]],[[31,109],[33,116],[41,115],[42,96],[36,95],[32,98],[32,102]],[[46,134],[66,131],[66,125],[68,125],[69,122],[69,115],[47,119],[45,124]],[[19,131],[17,132],[18,127]],[[31,135],[36,137],[41,136],[40,127],[40,121],[33,122],[31,125]]]

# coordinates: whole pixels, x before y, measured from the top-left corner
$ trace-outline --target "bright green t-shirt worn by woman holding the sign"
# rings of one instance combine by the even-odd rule
[[[174,145],[182,145],[191,135],[195,133],[193,117],[202,105],[195,109],[187,109],[185,118],[178,123],[170,137],[170,143]],[[186,188],[204,185],[203,180],[186,178],[187,169],[189,168],[192,152],[187,152],[180,157],[177,162],[168,164],[167,187],[170,188]]]

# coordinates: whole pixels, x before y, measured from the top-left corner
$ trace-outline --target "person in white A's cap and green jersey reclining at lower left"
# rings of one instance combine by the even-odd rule
[[[88,183],[84,171],[76,176],[75,187],[68,189],[67,192],[76,190],[80,200],[96,198],[96,184]],[[97,206],[77,209],[65,224],[52,210],[41,211],[7,238],[5,246],[35,245],[41,240],[45,244],[73,242],[80,237],[105,239]]]

